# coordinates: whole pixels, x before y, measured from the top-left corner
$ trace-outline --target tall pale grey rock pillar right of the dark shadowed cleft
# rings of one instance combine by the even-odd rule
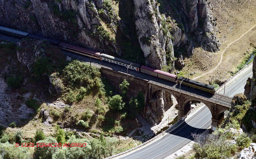
[[[161,69],[166,65],[166,43],[171,47],[173,45],[161,29],[162,18],[158,5],[155,0],[134,0],[134,6],[136,33],[146,58],[146,65]]]

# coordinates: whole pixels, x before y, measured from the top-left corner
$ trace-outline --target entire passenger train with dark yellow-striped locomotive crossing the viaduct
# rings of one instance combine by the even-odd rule
[[[168,72],[164,72],[161,71],[159,69],[153,69],[151,67],[148,66],[144,66],[135,62],[130,62],[124,59],[120,59],[118,57],[114,57],[108,54],[103,54],[97,51],[93,51],[93,50],[89,50],[83,47],[77,47],[68,43],[64,43],[58,40],[53,40],[53,39],[49,39],[49,38],[45,38],[42,37],[41,35],[36,35],[36,34],[32,34],[32,33],[26,33],[26,32],[22,32],[22,31],[18,31],[15,29],[10,29],[10,28],[6,28],[3,26],[0,26],[0,33],[2,34],[6,34],[6,35],[10,35],[10,36],[14,36],[14,37],[18,37],[18,38],[33,38],[33,39],[38,39],[38,40],[47,40],[49,41],[49,43],[51,45],[57,46],[59,47],[61,50],[66,50],[69,52],[73,52],[76,54],[81,54],[81,55],[85,55],[87,57],[90,58],[94,58],[100,61],[104,61],[104,62],[108,62],[111,64],[115,64],[121,67],[125,67],[137,72],[141,72],[143,74],[147,74],[150,76],[154,76],[166,81],[170,81],[173,83],[178,83],[178,84],[182,84],[184,86],[187,87],[192,87],[194,89],[197,90],[201,90],[204,91],[206,93],[211,93],[214,94],[215,92],[215,88],[211,85],[205,84],[205,83],[201,83],[201,82],[197,82],[185,77],[179,77],[177,75],[168,73]]]

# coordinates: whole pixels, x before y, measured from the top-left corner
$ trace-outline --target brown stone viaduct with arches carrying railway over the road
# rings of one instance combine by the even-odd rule
[[[123,82],[124,79],[127,79],[127,74],[119,71],[115,71],[108,68],[101,68],[101,74],[103,77],[108,79],[111,84],[113,84],[118,91],[120,91],[119,84]],[[211,129],[216,130],[218,126],[219,120],[224,116],[224,112],[229,110],[230,104],[223,104],[220,102],[216,102],[213,99],[202,97],[200,95],[196,95],[187,91],[180,90],[178,88],[174,88],[171,86],[167,86],[161,83],[156,83],[154,81],[145,80],[142,78],[138,78],[136,76],[129,75],[128,76],[128,82],[129,85],[129,93],[128,98],[135,97],[139,91],[142,91],[145,97],[145,104],[146,108],[149,109],[150,107],[150,101],[153,98],[157,98],[156,96],[159,96],[159,91],[168,92],[169,94],[173,95],[174,98],[176,98],[178,102],[178,120],[184,120],[187,116],[187,114],[190,112],[190,102],[191,101],[199,101],[205,104],[209,110],[211,111],[212,116],[212,123],[211,123]],[[231,102],[231,101],[230,101]],[[229,103],[230,103],[229,102]],[[155,108],[151,108],[152,112],[157,112],[156,110],[158,107],[161,107],[161,105],[154,105]],[[144,113],[144,114],[143,114]],[[156,113],[156,115],[161,113]],[[145,119],[149,118],[146,116],[146,112],[142,112],[142,115],[145,117]],[[153,115],[153,114],[148,114]],[[162,117],[160,117],[162,119]],[[158,123],[157,123],[158,124]]]

